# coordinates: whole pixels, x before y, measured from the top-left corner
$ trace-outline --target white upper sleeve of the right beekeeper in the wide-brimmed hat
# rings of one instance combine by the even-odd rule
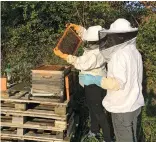
[[[119,84],[119,89],[124,89],[127,82],[128,62],[124,53],[118,53],[112,58],[112,78]],[[109,77],[109,76],[108,76]]]

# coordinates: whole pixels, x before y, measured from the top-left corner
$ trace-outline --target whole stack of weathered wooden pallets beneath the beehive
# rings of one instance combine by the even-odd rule
[[[71,134],[74,125],[72,108],[68,101],[60,103],[58,98],[27,97],[29,92],[16,91],[9,98],[1,98],[2,138],[63,142],[64,135]],[[15,128],[8,133],[4,128]],[[34,135],[27,133],[34,130]],[[49,131],[53,135],[36,135],[36,131]],[[61,139],[56,139],[58,136]]]

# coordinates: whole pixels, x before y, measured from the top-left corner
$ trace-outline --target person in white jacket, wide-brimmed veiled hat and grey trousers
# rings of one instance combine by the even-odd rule
[[[112,23],[109,30],[101,31],[99,35],[104,38],[100,39],[100,45],[105,48],[101,53],[108,62],[107,77],[85,76],[85,85],[95,83],[107,89],[102,104],[112,114],[117,142],[137,142],[137,118],[144,106],[143,63],[136,49],[137,32],[137,28],[122,18]]]

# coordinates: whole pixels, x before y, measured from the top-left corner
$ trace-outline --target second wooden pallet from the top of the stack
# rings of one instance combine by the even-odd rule
[[[70,136],[71,129],[74,125],[72,114],[68,123],[64,121],[57,121],[55,119],[38,118],[38,117],[22,117],[12,115],[1,115],[1,132],[5,132],[6,128],[16,128],[16,134],[19,136],[25,135],[28,130],[36,131],[49,131],[55,134],[57,138],[64,138]]]

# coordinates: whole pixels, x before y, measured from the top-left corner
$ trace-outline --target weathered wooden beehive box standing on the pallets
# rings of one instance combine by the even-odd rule
[[[43,65],[32,70],[33,96],[63,96],[69,66]]]

